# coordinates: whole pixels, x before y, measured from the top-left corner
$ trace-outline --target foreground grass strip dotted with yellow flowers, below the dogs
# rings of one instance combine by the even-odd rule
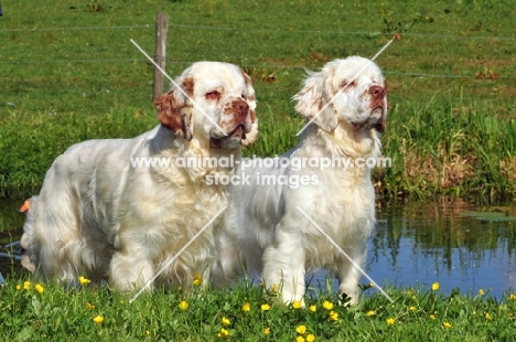
[[[465,296],[430,286],[389,287],[390,303],[364,287],[368,296],[345,307],[319,289],[316,298],[305,298],[305,308],[295,308],[277,303],[273,293],[264,295],[247,282],[223,291],[144,293],[132,302],[129,295],[92,285],[64,290],[40,284],[37,289],[23,280],[0,289],[3,339],[308,341],[313,335],[315,341],[510,341],[516,333],[516,297],[509,292],[497,300],[484,290]]]

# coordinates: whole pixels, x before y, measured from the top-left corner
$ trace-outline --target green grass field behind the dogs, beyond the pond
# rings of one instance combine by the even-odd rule
[[[516,35],[510,1],[3,1],[0,191],[39,186],[69,145],[132,137],[157,124],[154,18],[170,17],[168,65],[241,65],[254,77],[260,138],[245,153],[292,147],[290,97],[326,61],[377,58],[390,113],[380,194],[507,196],[516,190]],[[399,33],[399,35],[395,35]]]

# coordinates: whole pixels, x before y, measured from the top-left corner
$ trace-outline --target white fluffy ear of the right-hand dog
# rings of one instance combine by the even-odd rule
[[[319,128],[331,132],[336,128],[338,121],[332,104],[327,105],[333,92],[327,88],[330,82],[325,79],[326,74],[325,71],[321,73],[308,72],[303,88],[292,99],[298,101],[295,110],[300,115],[309,120],[313,119]]]

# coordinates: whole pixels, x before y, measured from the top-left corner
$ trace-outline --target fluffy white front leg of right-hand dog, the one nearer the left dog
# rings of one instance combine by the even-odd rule
[[[299,300],[304,306],[304,248],[300,234],[277,231],[275,241],[264,253],[262,277],[265,286],[279,291],[284,303]]]

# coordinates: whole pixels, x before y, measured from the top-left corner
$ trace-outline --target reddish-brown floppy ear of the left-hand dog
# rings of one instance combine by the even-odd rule
[[[175,79],[181,88],[174,85],[169,93],[159,96],[154,105],[161,125],[170,129],[175,137],[192,140],[192,105],[185,94],[193,96],[194,82],[189,73],[190,68]]]

